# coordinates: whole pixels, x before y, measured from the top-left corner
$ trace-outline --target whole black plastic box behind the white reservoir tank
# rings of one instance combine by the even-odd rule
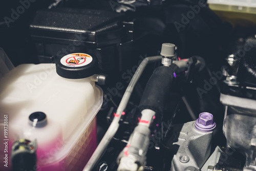
[[[131,47],[124,19],[124,14],[101,10],[39,10],[30,24],[36,57],[48,63],[70,53],[90,53],[98,58],[101,70],[116,68],[126,58],[123,47],[125,51]]]

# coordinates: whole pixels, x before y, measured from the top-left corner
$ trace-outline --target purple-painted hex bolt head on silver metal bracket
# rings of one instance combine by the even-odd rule
[[[199,114],[199,118],[196,120],[195,127],[197,130],[203,132],[210,132],[214,130],[216,127],[214,116],[207,112]]]

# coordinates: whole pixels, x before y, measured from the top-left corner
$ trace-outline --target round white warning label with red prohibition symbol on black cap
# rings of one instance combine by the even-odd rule
[[[92,56],[85,53],[73,53],[60,59],[60,63],[67,67],[82,67],[91,63]]]

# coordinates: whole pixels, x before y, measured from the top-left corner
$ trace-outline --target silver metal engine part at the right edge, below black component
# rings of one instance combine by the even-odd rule
[[[245,167],[256,170],[255,100],[224,94],[221,94],[220,99],[226,105],[223,133],[227,144],[245,154]]]

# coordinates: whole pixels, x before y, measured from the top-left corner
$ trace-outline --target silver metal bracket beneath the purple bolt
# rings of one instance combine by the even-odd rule
[[[199,120],[200,121],[200,120]],[[196,122],[177,124],[167,144],[174,154],[170,170],[197,171],[210,155],[212,130],[203,132],[196,129]]]

